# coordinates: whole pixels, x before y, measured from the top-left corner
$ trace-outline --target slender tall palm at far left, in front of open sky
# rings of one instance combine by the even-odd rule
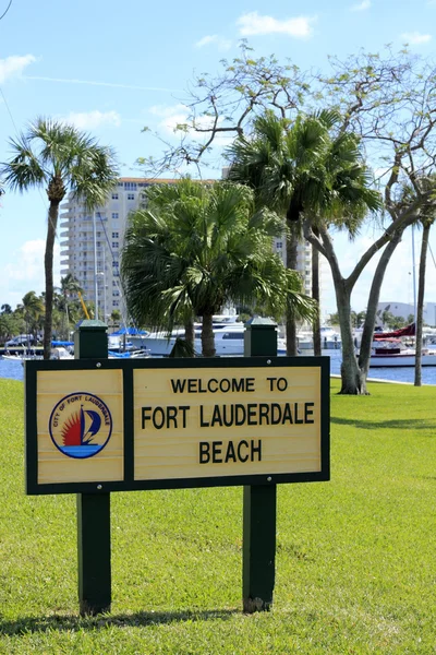
[[[53,310],[53,246],[59,205],[70,191],[90,210],[106,200],[118,170],[110,148],[75,127],[37,118],[27,131],[11,139],[12,158],[0,166],[3,182],[20,192],[46,188],[49,209],[45,252],[46,317],[44,357],[50,358]]]

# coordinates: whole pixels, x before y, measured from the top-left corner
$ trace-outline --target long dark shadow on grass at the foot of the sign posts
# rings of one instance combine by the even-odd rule
[[[27,632],[47,632],[57,630],[96,630],[108,627],[138,628],[183,621],[228,620],[242,609],[210,609],[207,611],[138,611],[131,615],[97,615],[80,617],[77,615],[51,615],[44,617],[23,617],[8,621],[0,617],[0,634],[13,636]]]

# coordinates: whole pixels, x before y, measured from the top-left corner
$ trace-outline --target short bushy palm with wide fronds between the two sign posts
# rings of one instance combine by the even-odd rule
[[[191,180],[177,187],[153,191],[125,234],[121,274],[129,311],[140,324],[171,326],[178,312],[201,315],[202,350],[210,357],[213,314],[228,300],[259,298],[268,311],[289,301],[312,315],[299,277],[271,250],[281,222],[256,212],[250,189]]]

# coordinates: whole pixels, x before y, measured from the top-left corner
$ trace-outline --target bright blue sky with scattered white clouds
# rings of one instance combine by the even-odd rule
[[[0,15],[8,4],[0,0]],[[172,126],[183,118],[187,83],[195,73],[218,72],[222,58],[238,55],[241,38],[249,39],[255,56],[289,57],[302,69],[325,69],[328,55],[380,51],[386,44],[400,49],[405,41],[412,51],[433,57],[436,0],[221,0],[208,5],[198,0],[130,0],[125,5],[75,0],[56,3],[56,9],[51,2],[13,0],[0,21],[0,160],[8,158],[8,139],[15,130],[37,116],[50,116],[113,146],[122,175],[140,176],[135,159],[159,156],[161,147],[142,128],[171,138]],[[0,305],[15,307],[28,290],[44,290],[46,221],[44,191],[8,192],[1,199]],[[337,237],[344,272],[372,234],[352,246]],[[419,235],[415,242],[417,252]],[[435,236],[432,250],[436,254]],[[373,271],[374,264],[353,295],[358,311],[366,306]],[[380,299],[411,302],[411,238],[405,235]],[[335,311],[331,285],[325,286],[326,309]],[[432,258],[426,300],[436,301]]]

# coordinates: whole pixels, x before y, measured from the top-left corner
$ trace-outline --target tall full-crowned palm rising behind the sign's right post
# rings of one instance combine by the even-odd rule
[[[250,139],[240,136],[228,148],[229,178],[253,188],[261,205],[287,216],[287,265],[296,267],[302,218],[317,224],[335,222],[351,234],[374,205],[352,134],[330,133],[340,116],[325,110],[300,115],[291,122],[271,111],[259,117]],[[319,223],[320,222],[320,223]],[[313,249],[313,298],[319,303],[318,253]],[[320,353],[319,314],[314,321],[315,352]],[[288,355],[296,354],[295,317],[287,318]]]

